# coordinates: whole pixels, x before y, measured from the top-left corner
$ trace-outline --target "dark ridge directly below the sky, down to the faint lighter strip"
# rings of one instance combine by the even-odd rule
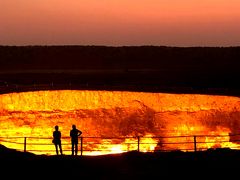
[[[0,46],[0,69],[236,70],[240,47]],[[228,69],[226,69],[228,68]]]

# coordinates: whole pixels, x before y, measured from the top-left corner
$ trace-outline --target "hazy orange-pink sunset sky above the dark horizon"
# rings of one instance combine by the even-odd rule
[[[0,0],[0,45],[240,46],[240,1]]]

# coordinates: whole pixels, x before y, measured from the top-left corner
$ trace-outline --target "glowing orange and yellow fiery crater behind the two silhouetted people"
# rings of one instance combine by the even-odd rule
[[[239,149],[240,139],[231,135],[240,129],[240,99],[77,90],[0,95],[0,143],[9,148],[55,154],[51,138],[58,125],[63,152],[70,154],[72,124],[83,132],[83,155],[193,151],[194,141],[197,150]]]

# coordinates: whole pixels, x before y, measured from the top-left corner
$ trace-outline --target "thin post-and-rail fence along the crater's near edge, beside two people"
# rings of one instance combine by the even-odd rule
[[[0,137],[8,148],[35,154],[56,154],[51,137]],[[196,135],[167,137],[79,137],[79,155],[102,155],[128,151],[203,151],[212,148],[240,149],[240,135]],[[62,138],[64,154],[71,154],[69,137]]]

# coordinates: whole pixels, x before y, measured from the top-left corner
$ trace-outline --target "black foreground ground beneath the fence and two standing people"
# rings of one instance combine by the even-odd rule
[[[105,156],[44,156],[0,150],[1,176],[20,179],[238,179],[240,151],[129,152]]]

